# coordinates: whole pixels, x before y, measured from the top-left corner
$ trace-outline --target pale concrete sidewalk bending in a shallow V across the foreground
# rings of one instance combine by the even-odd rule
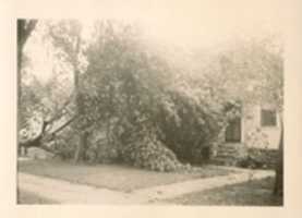
[[[195,179],[124,193],[20,172],[19,189],[61,204],[148,204],[158,199],[273,175],[275,175],[274,171],[244,170],[229,175]]]

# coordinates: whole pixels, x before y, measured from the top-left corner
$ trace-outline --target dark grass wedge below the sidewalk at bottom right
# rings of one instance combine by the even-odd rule
[[[227,185],[166,199],[164,203],[181,205],[281,206],[282,197],[276,197],[271,194],[274,181],[274,178],[266,178]]]

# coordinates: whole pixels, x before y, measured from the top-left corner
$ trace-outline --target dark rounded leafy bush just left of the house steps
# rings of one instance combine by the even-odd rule
[[[167,107],[167,100],[162,101],[156,119],[159,138],[179,159],[203,164],[209,159],[212,146],[219,142],[222,129],[219,109],[205,104],[194,93],[176,90],[168,95],[172,106]]]

